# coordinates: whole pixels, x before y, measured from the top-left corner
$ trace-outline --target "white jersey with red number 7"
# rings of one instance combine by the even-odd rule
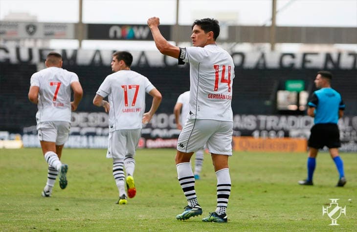
[[[72,82],[79,82],[77,74],[59,67],[48,67],[31,76],[31,86],[39,86],[37,124],[48,121],[71,121]]]

